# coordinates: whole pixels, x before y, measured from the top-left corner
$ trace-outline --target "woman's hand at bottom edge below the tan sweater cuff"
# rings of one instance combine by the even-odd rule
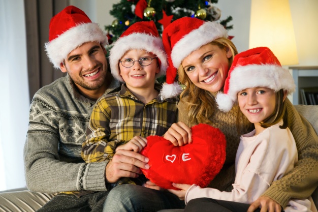
[[[261,208],[261,212],[266,212],[266,211],[280,212],[281,211],[280,204],[278,204],[275,200],[266,196],[261,196],[249,206],[247,212],[253,212],[259,207]]]

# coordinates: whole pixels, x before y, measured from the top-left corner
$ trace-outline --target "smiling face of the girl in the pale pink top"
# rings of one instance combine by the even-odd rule
[[[268,87],[241,90],[237,100],[240,110],[253,124],[258,124],[269,117],[276,107],[276,93]]]

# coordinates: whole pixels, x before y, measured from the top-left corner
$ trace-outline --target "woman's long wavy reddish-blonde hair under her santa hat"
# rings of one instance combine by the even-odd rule
[[[232,52],[232,57],[229,58],[230,69],[234,55],[238,53],[233,42],[227,38],[218,38],[212,41],[211,44]],[[197,87],[188,78],[182,65],[178,68],[178,80],[185,85],[185,89],[180,94],[180,100],[186,104],[189,123],[197,125],[210,122],[209,118],[212,116],[215,108],[214,96],[208,90]],[[184,97],[188,97],[186,102],[183,101]]]

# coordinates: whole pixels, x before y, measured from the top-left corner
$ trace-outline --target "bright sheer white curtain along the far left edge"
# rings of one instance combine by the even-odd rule
[[[29,94],[23,0],[0,0],[0,191],[25,187]]]

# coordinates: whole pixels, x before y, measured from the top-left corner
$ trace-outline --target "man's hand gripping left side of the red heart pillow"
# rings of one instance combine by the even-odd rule
[[[149,169],[149,159],[131,150],[118,149],[107,164],[105,177],[108,183],[115,183],[120,177],[136,178],[142,174],[140,168]]]

